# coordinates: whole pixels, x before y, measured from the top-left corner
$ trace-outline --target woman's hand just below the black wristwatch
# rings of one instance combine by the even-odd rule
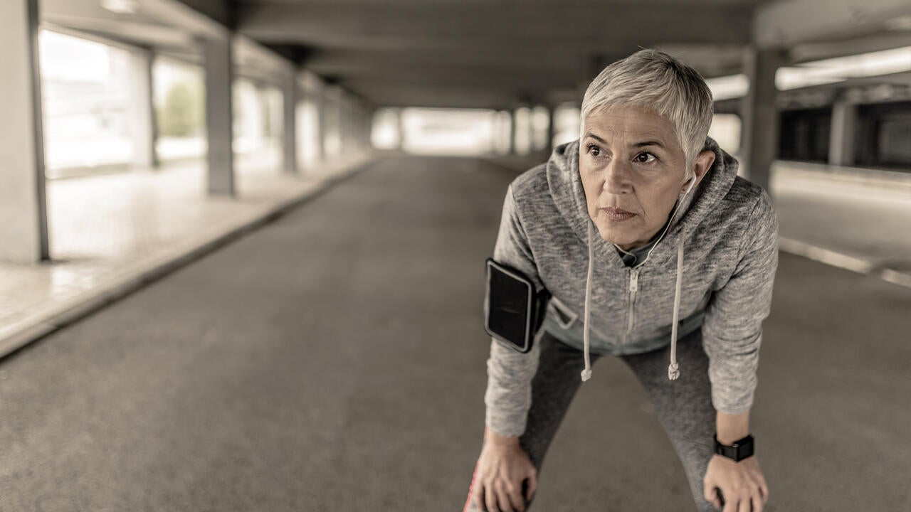
[[[725,456],[712,456],[703,484],[705,499],[718,508],[722,507],[722,499],[718,496],[718,489],[721,489],[723,512],[762,512],[769,499],[769,487],[756,456],[740,462]]]

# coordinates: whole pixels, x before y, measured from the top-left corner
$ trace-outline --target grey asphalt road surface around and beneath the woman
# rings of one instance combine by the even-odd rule
[[[0,510],[459,510],[484,258],[515,172],[385,159],[0,362]],[[782,254],[752,409],[767,510],[911,509],[911,290]],[[689,510],[599,361],[535,507]]]

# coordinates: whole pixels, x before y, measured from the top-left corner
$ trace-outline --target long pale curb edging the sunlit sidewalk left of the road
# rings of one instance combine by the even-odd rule
[[[82,292],[53,309],[36,313],[0,328],[0,359],[15,354],[47,334],[54,333],[70,323],[97,312],[108,304],[117,302],[128,294],[199,260],[231,241],[236,241],[251,231],[279,219],[291,210],[316,199],[343,180],[352,178],[368,169],[376,160],[376,155],[369,155],[347,162],[341,165],[332,176],[321,179],[312,189],[307,189],[300,195],[273,201],[208,230],[200,230],[200,236],[189,241],[179,242],[169,250],[141,259],[137,264],[131,265],[119,273],[116,272],[105,282],[99,283],[91,290]]]

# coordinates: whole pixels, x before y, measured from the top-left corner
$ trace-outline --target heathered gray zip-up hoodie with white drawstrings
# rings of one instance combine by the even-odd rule
[[[712,404],[729,415],[748,411],[778,266],[778,220],[768,194],[738,177],[737,160],[706,138],[705,148],[715,152],[711,169],[678,200],[648,258],[628,267],[589,217],[578,146],[574,140],[554,148],[547,163],[509,184],[503,203],[494,260],[551,294],[536,338],[547,331],[584,351],[583,381],[591,374],[589,352],[670,344],[673,380],[687,371],[677,366],[676,341],[701,327]],[[491,340],[486,425],[497,434],[525,432],[537,342],[518,353]]]

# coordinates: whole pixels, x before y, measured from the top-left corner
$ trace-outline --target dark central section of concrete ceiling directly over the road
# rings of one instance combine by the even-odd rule
[[[237,29],[376,105],[504,108],[578,97],[660,46],[738,69],[758,0],[241,0]]]

